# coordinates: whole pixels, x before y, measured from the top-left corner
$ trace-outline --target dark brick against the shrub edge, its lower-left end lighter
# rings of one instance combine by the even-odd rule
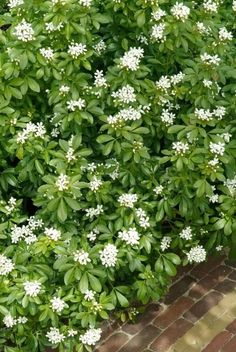
[[[134,335],[139,331],[142,331],[147,324],[156,319],[156,317],[163,311],[163,307],[160,304],[149,304],[143,314],[140,314],[135,324],[126,323],[122,327],[122,331]]]

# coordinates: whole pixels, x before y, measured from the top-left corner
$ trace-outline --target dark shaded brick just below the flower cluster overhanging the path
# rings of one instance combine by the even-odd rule
[[[181,297],[186,291],[188,291],[195,281],[196,280],[189,275],[177,281],[174,285],[171,286],[164,302],[166,304],[173,303],[177,298]]]

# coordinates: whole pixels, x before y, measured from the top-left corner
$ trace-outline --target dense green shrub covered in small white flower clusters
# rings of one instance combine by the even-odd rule
[[[1,350],[92,351],[110,311],[236,250],[236,1],[8,9]]]

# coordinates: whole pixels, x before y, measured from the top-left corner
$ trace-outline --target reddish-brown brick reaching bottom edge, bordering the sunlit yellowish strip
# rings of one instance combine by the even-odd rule
[[[166,352],[175,341],[183,336],[191,327],[192,323],[180,318],[172,323],[162,334],[151,344],[150,348],[156,352]]]

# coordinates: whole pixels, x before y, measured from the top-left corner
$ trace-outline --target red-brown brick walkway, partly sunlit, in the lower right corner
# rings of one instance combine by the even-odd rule
[[[107,324],[95,352],[236,352],[236,263],[182,268],[135,324]]]

